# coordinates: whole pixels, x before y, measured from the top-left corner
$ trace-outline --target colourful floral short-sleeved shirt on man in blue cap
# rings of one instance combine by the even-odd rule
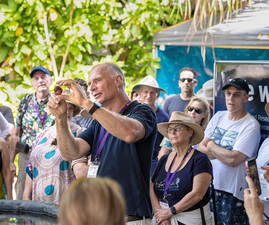
[[[46,128],[49,128],[54,124],[54,118],[51,117],[50,115],[46,114],[46,118],[44,121],[44,124],[42,126],[42,120],[44,117],[44,108],[47,106],[47,102],[49,101],[49,96],[48,95],[44,100],[42,100],[40,103],[37,102],[36,95],[33,94],[31,95],[31,99],[29,101],[29,104],[27,106],[27,109],[23,115],[22,118],[22,138],[21,142],[28,144],[30,148],[32,148],[33,143],[36,140],[37,133],[41,132],[42,130],[45,130]],[[23,106],[23,100],[25,97],[22,98],[19,107],[18,107],[18,112],[17,112],[17,117],[16,117],[16,126],[20,126],[20,120],[21,120],[21,115],[22,115],[22,106]],[[41,121],[38,118],[37,111],[35,109],[35,103],[37,104],[37,108],[40,113]]]

